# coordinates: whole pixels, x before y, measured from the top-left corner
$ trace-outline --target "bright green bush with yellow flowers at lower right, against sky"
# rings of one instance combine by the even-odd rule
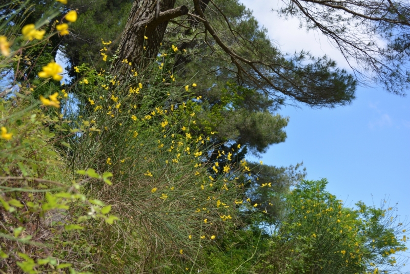
[[[346,207],[326,183],[303,181],[286,196],[288,209],[256,272],[400,273],[408,223],[397,207]]]

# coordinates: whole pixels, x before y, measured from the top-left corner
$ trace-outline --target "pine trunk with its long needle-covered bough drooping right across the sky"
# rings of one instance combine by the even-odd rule
[[[327,57],[315,58],[304,52],[284,56],[270,43],[266,31],[257,25],[252,14],[237,1],[194,0],[188,6],[178,7],[178,4],[161,1],[156,17],[156,1],[134,2],[111,70],[113,74],[124,74],[121,69],[124,59],[138,67],[145,63],[145,58],[156,57],[172,20],[176,27],[168,32],[177,33],[179,43],[195,44],[200,40],[202,56],[211,56],[212,62],[215,61],[207,66],[211,75],[225,74],[238,85],[272,98],[287,98],[312,107],[335,107],[354,98],[356,81],[352,75],[337,69],[336,63]],[[236,14],[230,14],[229,10]]]

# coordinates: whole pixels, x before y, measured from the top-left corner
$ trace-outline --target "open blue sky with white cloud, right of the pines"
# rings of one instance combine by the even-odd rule
[[[297,19],[284,20],[271,12],[278,0],[241,0],[268,29],[283,52],[308,50],[324,54],[350,70],[326,37],[299,29]],[[410,93],[408,91],[407,93]],[[327,191],[354,206],[358,201],[380,206],[386,198],[398,202],[401,218],[410,216],[410,98],[381,88],[359,87],[350,106],[313,110],[284,107],[289,116],[288,138],[262,155],[266,164],[288,166],[303,161],[308,179],[327,178]],[[409,246],[410,247],[410,246]],[[410,270],[406,267],[405,270]]]

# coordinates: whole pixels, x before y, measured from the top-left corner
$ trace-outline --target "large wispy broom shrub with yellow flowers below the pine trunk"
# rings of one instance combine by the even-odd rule
[[[207,245],[240,226],[240,207],[252,207],[242,203],[245,166],[227,154],[224,170],[212,170],[211,134],[197,127],[200,103],[187,99],[185,83],[165,85],[156,62],[130,71],[122,83],[103,71],[77,69],[88,72],[69,90],[81,100],[70,120],[88,131],[66,140],[68,161],[74,169],[113,174],[111,186],[90,181],[83,191],[111,204],[119,218],[109,229],[83,230],[99,246],[95,271],[206,270]]]

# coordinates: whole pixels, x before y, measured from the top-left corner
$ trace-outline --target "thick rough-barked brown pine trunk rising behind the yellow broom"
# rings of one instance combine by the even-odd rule
[[[186,6],[174,8],[175,0],[160,1],[159,13],[155,14],[157,0],[135,0],[128,22],[118,47],[118,58],[114,60],[111,74],[122,81],[131,62],[131,68],[145,68],[150,59],[158,55],[160,43],[167,29],[168,21],[188,13]]]

